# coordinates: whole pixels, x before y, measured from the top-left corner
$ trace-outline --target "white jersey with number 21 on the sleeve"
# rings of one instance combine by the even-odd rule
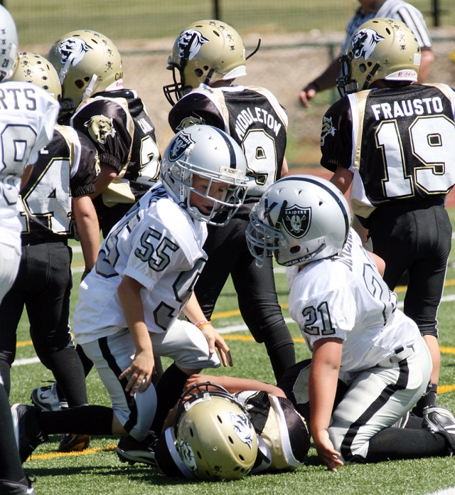
[[[382,280],[373,258],[350,230],[343,251],[287,268],[289,312],[310,351],[325,337],[343,339],[342,372],[375,366],[395,349],[420,339],[417,325],[397,309],[397,295]]]

